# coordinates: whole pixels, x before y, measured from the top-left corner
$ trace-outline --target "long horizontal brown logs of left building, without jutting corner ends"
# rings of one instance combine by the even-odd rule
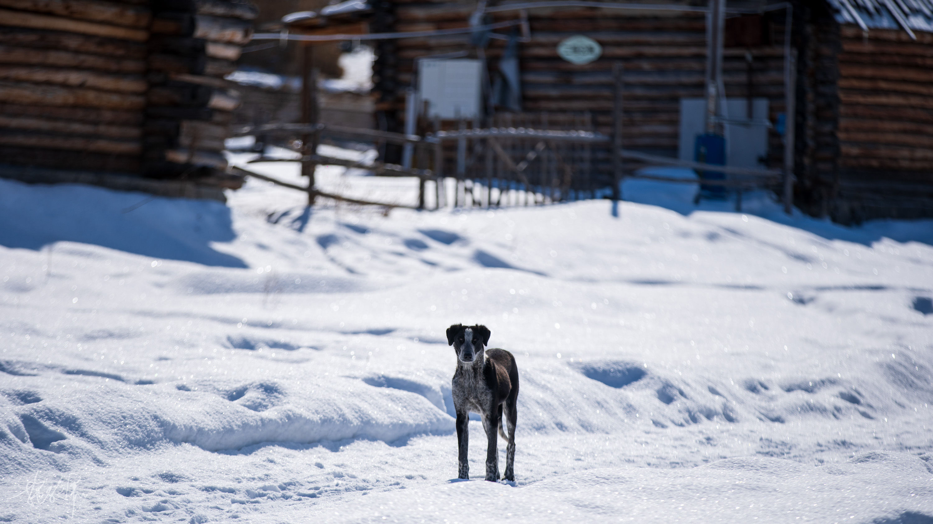
[[[138,172],[145,1],[0,0],[0,162]]]

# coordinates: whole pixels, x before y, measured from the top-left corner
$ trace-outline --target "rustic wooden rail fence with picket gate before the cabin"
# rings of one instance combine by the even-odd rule
[[[541,119],[546,116],[539,117]],[[504,116],[498,122],[516,123],[515,116]],[[526,123],[529,120],[522,120]],[[571,124],[585,122],[582,115]],[[550,121],[547,123],[550,124]],[[683,179],[652,176],[634,172],[634,166],[667,165],[694,169],[698,172],[724,172],[730,175],[727,180],[706,180],[703,184],[712,186],[730,186],[741,192],[755,187],[777,188],[787,178],[785,172],[717,166],[702,162],[673,159],[649,155],[628,149],[618,151],[618,175],[612,185],[607,185],[605,177],[594,175],[592,170],[592,147],[594,145],[612,145],[613,137],[598,131],[586,129],[540,129],[536,127],[487,127],[468,128],[461,121],[459,129],[434,131],[424,136],[402,134],[389,131],[331,126],[325,124],[274,124],[244,128],[236,134],[286,133],[313,137],[317,144],[327,138],[355,138],[374,145],[395,144],[411,145],[413,148],[411,167],[375,161],[371,163],[335,159],[319,154],[304,154],[299,159],[278,159],[260,156],[251,162],[300,161],[303,172],[314,166],[339,165],[347,168],[360,168],[383,176],[405,176],[418,179],[419,197],[417,206],[405,206],[387,202],[349,199],[341,195],[322,192],[309,179],[305,187],[295,186],[260,175],[248,170],[236,168],[237,174],[251,175],[270,181],[280,186],[305,191],[309,195],[309,205],[316,197],[348,201],[356,204],[379,205],[386,208],[413,207],[425,209],[428,192],[435,194],[435,209],[452,207],[502,207],[554,203],[566,200],[599,198],[600,196],[620,198],[613,190],[619,187],[622,178],[640,178],[662,182],[685,183]],[[455,147],[445,147],[453,144]],[[453,151],[453,155],[448,154]],[[306,152],[307,153],[307,152]],[[623,172],[622,166],[627,167]],[[453,200],[447,198],[447,180],[453,181]],[[695,183],[696,181],[693,181]],[[430,184],[430,186],[429,186]],[[609,191],[607,192],[606,189]],[[737,201],[741,206],[741,200]]]

